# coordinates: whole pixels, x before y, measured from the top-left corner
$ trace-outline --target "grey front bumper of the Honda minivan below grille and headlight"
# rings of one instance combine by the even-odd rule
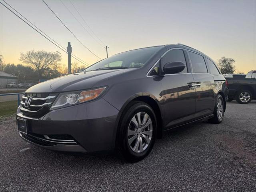
[[[24,116],[19,107],[16,117],[28,121],[28,133],[19,133],[20,137],[36,146],[58,151],[99,152],[114,149],[118,113],[116,108],[100,98],[52,110],[38,119]],[[59,134],[72,136],[75,144],[47,142],[42,139],[45,135]]]

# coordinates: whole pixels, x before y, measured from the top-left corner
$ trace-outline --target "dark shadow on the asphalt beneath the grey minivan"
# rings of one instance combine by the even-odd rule
[[[153,150],[150,152],[147,158],[140,162],[144,161],[150,161],[150,156],[154,156],[155,150],[161,150],[160,146],[166,144],[166,142],[171,142],[174,140],[180,140],[184,138],[184,136],[193,134],[193,132],[196,132],[196,130],[201,129],[202,126],[198,124],[206,124],[207,121],[204,122],[194,122],[191,124],[187,124],[184,126],[180,126],[177,128],[170,129],[165,132],[164,137],[162,139],[157,139],[155,142],[155,146]],[[31,145],[32,146],[32,145]],[[74,166],[79,165],[92,165],[93,164],[102,164],[108,162],[108,166],[116,166],[116,165],[123,165],[123,164],[130,164],[129,162],[125,161],[121,158],[120,155],[116,154],[114,151],[112,152],[97,152],[97,153],[81,153],[81,152],[58,152],[58,151],[50,151],[44,148],[39,148],[37,146],[32,146],[34,148],[33,155],[36,158],[41,158],[44,156],[45,161],[52,162],[54,161],[60,161],[62,164],[67,163],[70,166],[73,166],[70,164],[70,161],[74,163]],[[162,153],[162,151],[161,151]],[[47,158],[48,157],[48,158]],[[138,162],[138,163],[140,163]]]

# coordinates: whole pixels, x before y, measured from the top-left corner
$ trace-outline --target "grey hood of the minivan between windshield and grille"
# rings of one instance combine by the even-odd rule
[[[100,80],[109,78],[111,76],[116,76],[130,70],[134,69],[98,70],[65,75],[36,84],[27,89],[26,92],[68,92],[74,90],[90,89]]]

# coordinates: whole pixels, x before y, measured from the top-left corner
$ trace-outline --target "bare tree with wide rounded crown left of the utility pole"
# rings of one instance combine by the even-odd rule
[[[42,77],[44,71],[48,68],[56,68],[61,61],[60,52],[47,51],[28,51],[26,54],[20,53],[20,61],[36,69],[38,78]]]

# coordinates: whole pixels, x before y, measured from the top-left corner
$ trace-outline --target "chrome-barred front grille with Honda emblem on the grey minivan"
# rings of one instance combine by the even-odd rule
[[[20,101],[20,111],[25,116],[37,117],[45,115],[57,94],[49,93],[24,93]]]

